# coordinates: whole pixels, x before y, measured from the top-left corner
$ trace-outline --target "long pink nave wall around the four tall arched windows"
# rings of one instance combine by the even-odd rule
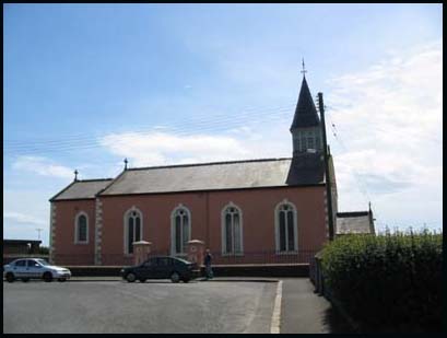
[[[152,242],[151,250],[168,253],[170,213],[179,203],[191,212],[191,240],[204,241],[211,252],[221,252],[221,211],[232,201],[242,209],[244,253],[250,253],[275,249],[274,208],[287,199],[297,209],[298,249],[318,250],[327,241],[324,191],[318,186],[101,197],[103,265],[123,255],[123,214],[131,207],[143,213],[142,240]]]

